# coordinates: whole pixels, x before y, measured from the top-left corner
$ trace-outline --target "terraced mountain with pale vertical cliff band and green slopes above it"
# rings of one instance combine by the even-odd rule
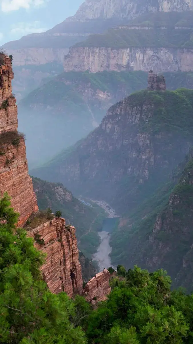
[[[65,56],[64,70],[191,71],[193,12],[148,13],[128,25],[91,35]]]

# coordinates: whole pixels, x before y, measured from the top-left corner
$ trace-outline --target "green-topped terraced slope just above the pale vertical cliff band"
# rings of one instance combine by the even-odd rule
[[[103,34],[90,35],[87,40],[79,42],[75,46],[115,49],[128,47],[190,48],[193,46],[192,19],[191,11],[148,13],[129,22],[126,29],[110,29]],[[141,26],[141,30],[133,29],[135,25]],[[145,30],[144,27],[149,29]]]

